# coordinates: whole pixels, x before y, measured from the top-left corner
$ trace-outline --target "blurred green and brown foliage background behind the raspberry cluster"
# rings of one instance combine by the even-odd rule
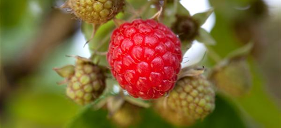
[[[129,2],[135,8],[147,3]],[[64,95],[65,86],[56,84],[61,78],[52,68],[74,63],[74,58],[65,55],[89,57],[88,49],[83,48],[82,41],[77,44],[77,40],[83,39],[80,26],[85,36],[90,36],[87,29],[91,31],[90,26],[81,25],[71,15],[55,9],[62,3],[1,1],[1,127],[117,127],[107,118],[105,110],[83,109]],[[262,0],[209,0],[209,3],[215,13],[211,35],[217,41],[211,48],[221,58],[249,41],[254,43],[248,58],[253,88],[243,97],[218,94],[215,111],[191,127],[280,127],[280,3],[277,9],[271,9]],[[147,18],[156,10],[145,12],[142,17]],[[118,16],[127,15],[125,12]],[[90,51],[97,47],[95,41],[109,38],[107,34],[112,29],[113,22],[102,26],[90,43]],[[105,60],[103,63],[106,65]],[[207,68],[214,64],[208,55],[200,63]],[[140,123],[133,127],[175,127],[152,109],[143,109],[140,115]]]

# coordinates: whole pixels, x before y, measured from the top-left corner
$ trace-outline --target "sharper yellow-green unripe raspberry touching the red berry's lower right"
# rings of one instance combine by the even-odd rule
[[[212,85],[204,76],[184,77],[167,97],[167,106],[194,120],[203,119],[214,110],[214,97]]]

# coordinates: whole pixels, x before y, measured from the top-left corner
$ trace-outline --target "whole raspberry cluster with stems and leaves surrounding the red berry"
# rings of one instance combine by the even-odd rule
[[[232,98],[249,90],[251,83],[244,80],[250,77],[246,61],[225,60],[245,58],[250,49],[221,60],[210,47],[216,41],[201,28],[213,9],[190,15],[178,1],[145,3],[139,8],[123,0],[68,0],[62,6],[83,22],[99,25],[94,28],[97,35],[90,38],[91,57],[79,57],[75,67],[56,70],[66,78],[66,95],[78,104],[88,104],[87,109],[106,110],[108,125],[146,127],[142,121],[149,119],[140,116],[146,110],[156,112],[167,125],[211,122],[220,111],[215,110],[217,99],[221,102],[223,96]],[[83,24],[87,37],[91,29]],[[205,54],[206,61],[195,60]],[[189,61],[192,64],[185,64]],[[217,89],[229,95],[216,96]],[[150,106],[153,109],[147,109]]]

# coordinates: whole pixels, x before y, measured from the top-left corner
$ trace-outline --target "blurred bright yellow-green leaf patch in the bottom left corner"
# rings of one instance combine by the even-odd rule
[[[74,103],[63,95],[44,91],[21,90],[14,95],[16,99],[9,99],[6,105],[11,120],[7,118],[7,127],[61,127],[74,116],[78,110]]]

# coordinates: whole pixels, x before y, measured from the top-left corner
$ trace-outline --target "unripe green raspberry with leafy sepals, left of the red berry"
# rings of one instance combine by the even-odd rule
[[[66,94],[78,104],[84,105],[92,102],[105,88],[105,76],[102,69],[88,59],[77,57],[76,65],[72,70],[70,70],[70,66],[66,66],[56,71],[60,75],[65,72],[64,76],[61,76],[67,76]],[[65,75],[66,73],[70,75]]]

